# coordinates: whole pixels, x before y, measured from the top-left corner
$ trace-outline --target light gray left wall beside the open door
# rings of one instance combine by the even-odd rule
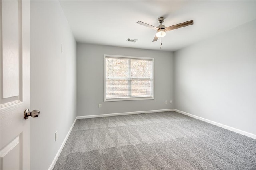
[[[48,169],[76,118],[76,41],[58,1],[30,7],[31,169]]]

